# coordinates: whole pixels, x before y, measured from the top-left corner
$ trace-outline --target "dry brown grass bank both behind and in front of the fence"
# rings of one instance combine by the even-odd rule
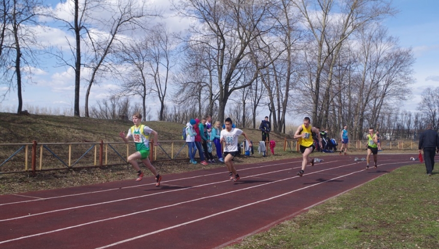
[[[159,133],[160,141],[181,141],[182,124],[160,121],[143,122],[143,124],[156,130]],[[100,142],[100,140],[109,143],[122,142],[119,137],[119,132],[122,130],[126,132],[132,125],[133,123],[131,121],[121,120],[0,113],[0,144],[32,143],[33,140],[36,140],[38,143],[96,143]],[[259,130],[246,128],[243,130],[251,140],[260,140],[261,134]],[[283,141],[285,137],[285,134],[273,132],[270,138],[276,141]],[[282,145],[279,143],[278,146]],[[0,163],[14,153],[17,148],[14,147],[13,149],[13,147],[14,146],[6,146],[3,147],[6,149],[0,148]],[[134,147],[131,147],[131,149],[134,150]],[[67,149],[63,147],[59,155],[63,154],[65,158],[67,152]],[[81,151],[81,153],[83,153],[83,151]],[[297,156],[299,156],[297,153],[292,152],[277,153],[276,155],[270,155],[268,157],[261,157],[255,154],[253,157],[238,157],[235,159],[235,163],[246,164]],[[60,167],[64,167],[55,158],[51,157],[51,159],[53,160],[52,162],[58,163]],[[19,165],[20,170],[22,170],[23,160],[15,157],[14,161],[14,163]],[[119,159],[119,163],[120,162],[123,161]],[[223,166],[222,164],[208,166],[201,164],[193,165],[189,164],[188,160],[161,161],[153,162],[153,164],[161,174]],[[9,166],[10,163],[7,165]],[[0,167],[0,172],[5,171],[8,171],[5,165]],[[145,172],[150,174],[148,170]],[[36,176],[31,176],[28,172],[14,174],[0,173],[0,194],[127,180],[133,179],[135,176],[136,174],[130,165],[102,168],[66,168],[65,170],[37,172]]]

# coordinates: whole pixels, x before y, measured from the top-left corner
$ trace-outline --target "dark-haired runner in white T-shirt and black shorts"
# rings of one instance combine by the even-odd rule
[[[229,171],[230,180],[236,182],[239,180],[239,174],[236,171],[235,166],[233,165],[233,158],[238,155],[238,137],[239,135],[243,135],[247,140],[248,145],[252,146],[250,139],[248,139],[247,135],[238,128],[232,128],[232,119],[227,118],[224,122],[225,129],[221,130],[220,133],[220,144],[223,142],[224,145],[224,164],[227,166],[227,170]],[[233,176],[235,175],[235,177]]]

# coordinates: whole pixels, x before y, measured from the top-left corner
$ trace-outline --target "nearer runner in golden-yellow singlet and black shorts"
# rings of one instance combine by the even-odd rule
[[[305,167],[307,164],[311,164],[311,166],[314,166],[314,158],[309,158],[309,154],[313,152],[314,146],[313,146],[313,136],[312,132],[315,132],[317,134],[317,138],[319,139],[319,145],[321,148],[321,138],[320,138],[320,132],[317,130],[317,128],[310,125],[311,119],[308,117],[305,117],[303,119],[303,125],[300,125],[296,133],[294,133],[294,138],[299,139],[298,143],[300,145],[300,152],[302,153],[302,169],[297,172],[298,176],[302,176],[303,172],[305,172]]]

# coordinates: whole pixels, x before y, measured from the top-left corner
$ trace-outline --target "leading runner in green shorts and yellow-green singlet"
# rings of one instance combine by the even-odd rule
[[[154,145],[159,145],[158,139],[159,134],[146,125],[141,124],[142,115],[140,113],[135,113],[133,115],[133,123],[134,125],[128,130],[127,135],[125,136],[125,132],[121,131],[119,136],[128,143],[129,138],[133,138],[134,143],[136,145],[136,152],[128,156],[127,161],[137,170],[137,179],[136,181],[140,181],[143,178],[143,172],[140,170],[140,167],[137,163],[137,160],[140,159],[149,170],[156,176],[156,186],[160,186],[161,175],[157,173],[157,170],[154,166],[152,166],[149,161],[149,134],[154,135]]]

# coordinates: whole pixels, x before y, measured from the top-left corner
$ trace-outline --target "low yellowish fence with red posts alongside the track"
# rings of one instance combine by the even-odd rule
[[[274,153],[280,151],[299,152],[297,140],[275,141],[278,145]],[[135,151],[133,142],[99,143],[37,143],[0,144],[0,174],[23,173],[37,171],[75,169],[85,167],[101,167],[126,165],[128,155]],[[254,143],[254,151],[258,151],[259,143]],[[282,145],[283,146],[279,146]],[[366,141],[354,140],[348,149],[364,149]],[[340,146],[340,145],[339,145]],[[382,149],[417,149],[417,142],[381,141]],[[188,159],[188,148],[184,141],[159,141],[154,146],[150,142],[149,159],[153,161]],[[213,150],[215,151],[215,149]],[[266,153],[271,152],[270,143],[266,143]]]

